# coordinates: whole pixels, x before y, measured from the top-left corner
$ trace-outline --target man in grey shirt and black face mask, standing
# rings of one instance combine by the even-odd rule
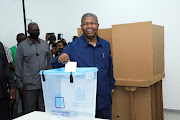
[[[24,114],[45,111],[39,72],[51,68],[51,51],[46,41],[39,38],[37,23],[28,24],[30,36],[18,44],[16,53],[16,80],[22,95]]]

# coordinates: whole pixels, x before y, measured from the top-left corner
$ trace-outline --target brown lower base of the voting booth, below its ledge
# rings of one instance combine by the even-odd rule
[[[112,94],[113,120],[164,120],[162,80],[149,87],[125,88],[115,86]]]

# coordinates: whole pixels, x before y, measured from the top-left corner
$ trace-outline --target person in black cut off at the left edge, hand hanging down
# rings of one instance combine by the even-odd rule
[[[8,93],[9,88],[9,93]],[[0,42],[0,119],[10,120],[10,101],[16,96],[16,82],[11,75],[6,53]]]

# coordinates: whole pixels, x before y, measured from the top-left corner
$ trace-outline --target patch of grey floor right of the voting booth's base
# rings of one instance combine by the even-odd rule
[[[180,111],[164,109],[164,120],[180,120]]]

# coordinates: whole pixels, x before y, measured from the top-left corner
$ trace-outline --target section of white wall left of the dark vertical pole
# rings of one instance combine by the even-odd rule
[[[0,41],[8,47],[15,45],[16,35],[24,32],[20,0],[0,0]]]

